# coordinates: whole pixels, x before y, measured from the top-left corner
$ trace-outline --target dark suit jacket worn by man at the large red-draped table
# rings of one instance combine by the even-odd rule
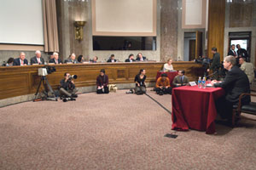
[[[250,93],[250,84],[248,77],[236,65],[227,72],[224,82],[215,83],[214,87],[224,88],[226,92],[225,99],[233,104],[238,103],[240,94]],[[250,96],[246,96],[242,99],[242,101],[243,103],[249,102]]]

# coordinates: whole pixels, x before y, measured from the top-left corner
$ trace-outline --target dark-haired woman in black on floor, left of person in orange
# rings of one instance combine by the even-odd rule
[[[136,83],[135,94],[146,94],[146,71],[141,69],[140,72],[136,75],[134,82]]]

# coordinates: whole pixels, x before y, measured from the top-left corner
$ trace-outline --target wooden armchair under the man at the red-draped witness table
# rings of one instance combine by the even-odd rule
[[[251,102],[247,105],[241,105],[241,98],[244,95],[254,96],[256,97],[256,94],[241,94],[239,96],[239,103],[238,105],[233,106],[233,116],[232,116],[232,126],[235,127],[236,124],[236,118],[240,118],[241,112],[255,115],[256,116],[256,102]]]

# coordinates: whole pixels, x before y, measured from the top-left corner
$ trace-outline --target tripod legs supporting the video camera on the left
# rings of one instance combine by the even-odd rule
[[[43,85],[44,85],[44,91],[43,91],[43,93],[45,95],[44,99],[57,101],[58,99],[55,97],[55,93],[54,93],[53,89],[51,88],[51,86],[49,85],[47,77],[45,77],[45,76],[41,77],[41,80],[38,84],[38,89],[37,89],[37,92],[35,94],[35,97],[34,97],[33,101],[37,101],[39,88],[41,87],[42,82],[43,82]],[[48,92],[50,92],[53,97],[49,97]]]

